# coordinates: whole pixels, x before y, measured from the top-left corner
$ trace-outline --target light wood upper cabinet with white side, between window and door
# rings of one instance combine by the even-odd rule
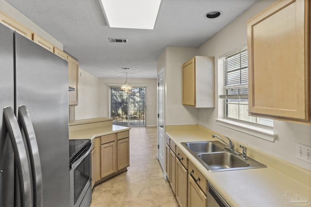
[[[195,56],[182,66],[182,103],[195,108],[215,107],[214,57]]]

